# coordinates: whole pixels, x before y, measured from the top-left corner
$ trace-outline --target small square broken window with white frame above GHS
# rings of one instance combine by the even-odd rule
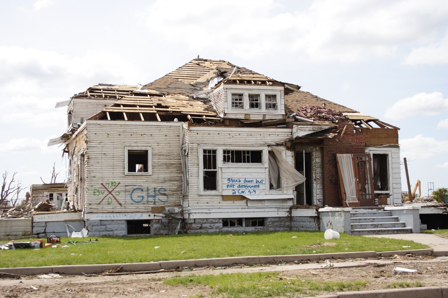
[[[151,174],[151,148],[126,148],[126,174]]]

